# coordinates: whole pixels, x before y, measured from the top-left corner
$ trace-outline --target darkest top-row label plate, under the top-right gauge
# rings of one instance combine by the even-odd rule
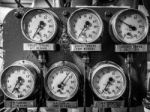
[[[146,44],[120,44],[115,45],[116,52],[147,52]]]

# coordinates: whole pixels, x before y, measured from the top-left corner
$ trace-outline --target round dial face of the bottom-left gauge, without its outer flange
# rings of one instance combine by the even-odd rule
[[[11,66],[3,74],[2,86],[6,96],[19,100],[28,97],[34,89],[33,75],[24,67]]]

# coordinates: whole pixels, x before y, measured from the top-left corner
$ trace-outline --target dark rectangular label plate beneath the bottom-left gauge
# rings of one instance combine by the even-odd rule
[[[10,107],[10,108],[27,108],[27,107],[35,107],[36,103],[33,100],[30,101],[4,101],[4,106],[5,107]]]

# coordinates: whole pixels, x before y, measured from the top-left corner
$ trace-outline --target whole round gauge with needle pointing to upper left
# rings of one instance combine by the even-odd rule
[[[124,9],[112,17],[110,29],[117,41],[132,44],[141,42],[146,37],[149,23],[141,11]]]

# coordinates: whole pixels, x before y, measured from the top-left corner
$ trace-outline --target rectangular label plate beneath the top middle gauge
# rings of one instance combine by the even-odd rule
[[[101,44],[71,44],[70,51],[101,51]]]

